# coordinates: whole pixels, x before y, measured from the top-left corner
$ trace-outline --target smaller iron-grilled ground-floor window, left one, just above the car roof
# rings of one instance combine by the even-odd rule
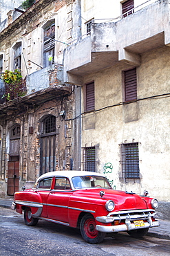
[[[95,172],[96,168],[96,150],[95,147],[83,148],[83,171]]]

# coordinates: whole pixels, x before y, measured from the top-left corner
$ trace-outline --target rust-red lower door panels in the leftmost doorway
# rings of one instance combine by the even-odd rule
[[[8,162],[8,191],[9,196],[19,191],[19,161]]]

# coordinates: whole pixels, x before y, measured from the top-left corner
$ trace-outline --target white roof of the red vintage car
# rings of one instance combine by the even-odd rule
[[[69,179],[72,179],[72,177],[75,176],[103,176],[105,177],[103,174],[99,174],[98,172],[85,172],[85,171],[56,171],[56,172],[47,172],[43,175],[41,175],[37,181],[39,181],[39,179],[42,178],[46,178],[46,177],[53,177],[53,176],[65,176]]]

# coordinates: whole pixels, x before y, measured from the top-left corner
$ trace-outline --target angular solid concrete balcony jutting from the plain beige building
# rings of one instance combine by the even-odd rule
[[[140,55],[170,46],[169,3],[156,1],[116,22],[92,24],[91,35],[64,53],[64,81],[82,84],[82,77],[126,62],[140,65]]]

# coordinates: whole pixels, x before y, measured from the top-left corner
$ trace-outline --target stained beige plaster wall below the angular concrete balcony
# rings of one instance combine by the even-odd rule
[[[116,189],[138,194],[149,190],[150,196],[162,201],[170,198],[170,104],[169,96],[164,96],[169,93],[169,53],[170,48],[164,46],[141,55],[137,68],[138,101],[131,104],[121,104],[122,71],[129,68],[127,64],[84,77],[85,83],[94,80],[96,112],[83,115],[82,147],[99,145],[97,171],[104,172],[104,165],[111,163],[113,170],[107,176]],[[109,107],[114,104],[119,105]],[[120,179],[120,143],[125,140],[139,143],[140,180]]]

